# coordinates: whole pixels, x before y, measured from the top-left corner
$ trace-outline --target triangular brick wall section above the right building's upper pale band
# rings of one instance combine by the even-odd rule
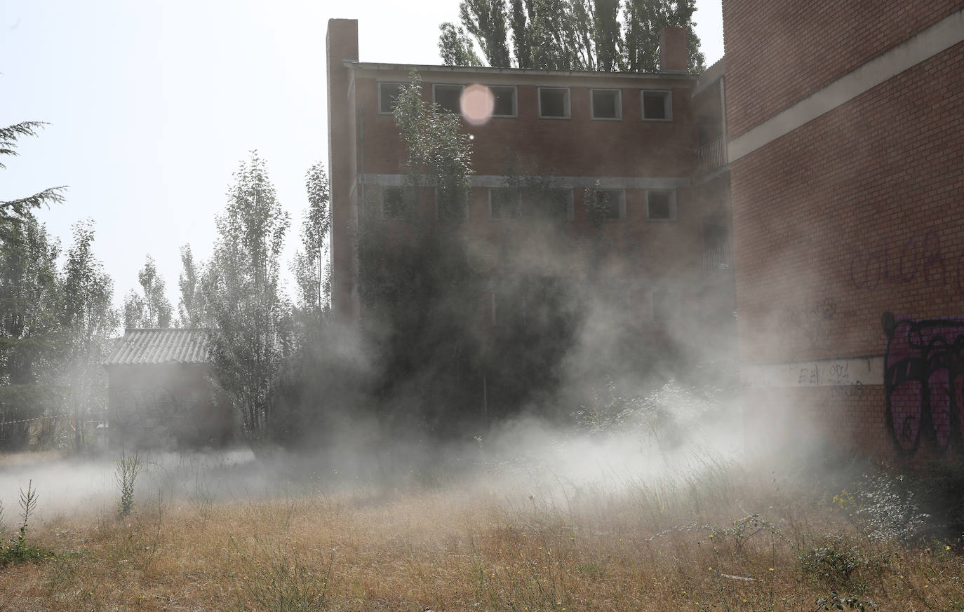
[[[960,9],[959,0],[723,0],[730,138]]]

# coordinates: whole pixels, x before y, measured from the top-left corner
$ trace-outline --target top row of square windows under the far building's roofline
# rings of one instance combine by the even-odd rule
[[[395,98],[405,83],[378,84],[379,113],[389,114],[394,107]],[[519,117],[519,89],[514,85],[490,85],[492,93],[493,117]],[[571,105],[568,87],[540,87],[538,104],[541,119],[570,119]],[[443,111],[459,113],[462,107],[462,85],[432,86],[432,99]],[[642,120],[668,121],[673,119],[672,92],[668,90],[640,90]],[[589,90],[589,108],[592,119],[623,119],[622,90]]]

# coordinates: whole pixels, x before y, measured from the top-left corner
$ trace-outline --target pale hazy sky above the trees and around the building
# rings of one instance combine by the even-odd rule
[[[696,5],[709,66],[723,55],[720,0]],[[93,218],[115,303],[149,253],[176,306],[178,248],[211,253],[231,173],[256,148],[292,217],[286,264],[305,172],[328,165],[328,19],[359,19],[363,62],[440,64],[439,23],[457,13],[458,0],[0,0],[0,123],[50,123],[4,160],[0,200],[68,185],[38,215],[50,232],[66,246]]]

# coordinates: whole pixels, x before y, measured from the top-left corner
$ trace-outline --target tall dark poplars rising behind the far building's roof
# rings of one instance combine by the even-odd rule
[[[463,0],[459,17],[489,66],[557,70],[657,72],[659,31],[688,30],[689,70],[704,57],[693,32],[695,0]],[[624,23],[619,21],[620,9]],[[469,65],[472,40],[442,23],[439,47],[446,65]],[[513,57],[506,40],[511,35]]]

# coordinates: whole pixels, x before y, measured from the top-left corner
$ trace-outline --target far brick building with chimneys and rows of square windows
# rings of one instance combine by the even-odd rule
[[[686,71],[683,29],[668,29],[663,42],[656,74],[373,64],[359,61],[358,21],[330,20],[335,312],[348,320],[360,313],[353,244],[360,216],[391,217],[402,198],[407,153],[391,100],[416,70],[426,103],[459,112],[469,88],[491,96],[488,120],[464,121],[473,137],[474,173],[463,226],[494,279],[505,266],[506,244],[542,249],[525,221],[526,207],[537,203],[512,188],[507,168],[515,164],[543,179],[550,201],[541,203],[555,211],[561,235],[587,243],[584,238],[601,234],[592,242],[603,245],[603,263],[568,274],[602,270],[614,287],[613,300],[641,333],[726,328],[735,305],[722,63],[697,78]],[[433,197],[421,190],[419,206],[428,218]],[[605,201],[601,227],[590,221],[587,198]],[[491,304],[491,322],[499,310],[497,285],[479,296]],[[696,343],[722,342],[709,334]]]

